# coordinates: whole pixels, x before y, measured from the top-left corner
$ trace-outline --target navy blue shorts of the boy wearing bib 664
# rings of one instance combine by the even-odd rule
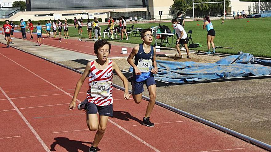
[[[150,76],[147,80],[142,82],[136,82],[132,81],[132,89],[133,89],[133,95],[138,95],[142,92],[144,92],[144,83],[146,84],[147,88],[153,84],[156,85],[156,82],[154,80],[153,76]]]

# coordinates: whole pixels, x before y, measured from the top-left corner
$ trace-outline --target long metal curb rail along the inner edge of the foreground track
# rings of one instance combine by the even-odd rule
[[[2,42],[0,42],[0,43],[2,43]],[[4,44],[4,43],[2,43],[2,44]],[[4,44],[4,45],[5,45],[5,44]],[[46,60],[46,61],[49,61],[49,62],[51,62],[51,63],[57,64],[57,65],[59,65],[59,66],[61,66],[61,67],[63,67],[63,68],[67,68],[67,69],[72,70],[72,71],[74,71],[74,72],[77,72],[77,73],[79,73],[79,74],[82,74],[82,73],[83,73],[83,72],[81,72],[81,71],[79,71],[79,70],[75,70],[75,69],[70,68],[70,67],[68,67],[68,66],[66,66],[66,65],[57,63],[57,62],[55,62],[55,61],[52,61],[52,60],[47,59],[47,58],[45,58],[45,57],[41,57],[41,56],[36,55],[36,54],[34,54],[34,53],[27,52],[27,51],[25,51],[25,50],[23,50],[23,49],[19,49],[19,48],[15,47],[15,46],[10,46],[10,47],[12,47],[12,48],[14,48],[14,49],[18,49],[18,50],[20,50],[20,51],[22,51],[22,52],[28,53],[28,54],[33,55],[33,56],[35,56],[35,57],[39,57],[39,58],[41,58],[41,59],[43,59],[43,60]],[[123,87],[121,87],[121,86],[119,86],[119,85],[113,84],[113,86],[114,86],[115,88],[120,89],[120,90],[123,90],[123,91],[125,90]],[[129,90],[129,93],[132,93],[132,91]],[[142,95],[142,98],[145,99],[145,100],[147,100],[147,101],[149,101],[149,99],[150,99],[149,97],[147,97],[147,96],[145,96],[145,95]],[[169,105],[167,105],[167,104],[165,104],[165,103],[162,103],[162,102],[160,102],[160,101],[157,101],[157,100],[156,100],[156,101],[155,101],[155,104],[159,105],[160,107],[164,107],[164,108],[166,108],[166,109],[168,109],[168,110],[171,110],[171,111],[173,111],[173,112],[176,112],[176,113],[178,113],[178,114],[180,114],[180,115],[184,115],[185,117],[188,117],[188,118],[190,118],[190,119],[193,119],[193,120],[195,120],[195,121],[197,121],[197,122],[200,122],[200,123],[203,123],[203,124],[208,125],[208,126],[210,126],[210,127],[213,127],[213,128],[215,128],[215,129],[217,129],[217,130],[219,130],[219,131],[222,131],[222,132],[224,132],[224,133],[226,133],[226,134],[230,134],[230,135],[232,135],[232,136],[234,136],[234,137],[237,137],[237,138],[239,138],[239,139],[242,139],[242,140],[244,140],[244,141],[246,141],[246,142],[248,142],[248,143],[250,143],[250,144],[253,144],[253,145],[259,146],[259,147],[261,147],[261,148],[263,148],[263,149],[265,149],[265,150],[271,151],[271,145],[269,145],[269,144],[267,144],[267,143],[265,143],[265,142],[261,142],[261,141],[259,141],[259,140],[257,140],[257,139],[251,138],[251,137],[249,137],[249,136],[247,136],[247,135],[244,135],[244,134],[241,134],[241,133],[239,133],[239,132],[233,131],[233,130],[231,130],[231,129],[229,129],[229,128],[220,126],[220,125],[218,125],[218,124],[216,124],[216,123],[212,123],[212,122],[210,122],[210,121],[208,121],[208,120],[206,120],[206,119],[200,118],[200,117],[198,117],[198,116],[196,116],[196,115],[192,115],[192,114],[190,114],[190,113],[188,113],[188,112],[182,111],[182,110],[177,109],[177,108],[172,107],[172,106],[169,106]]]

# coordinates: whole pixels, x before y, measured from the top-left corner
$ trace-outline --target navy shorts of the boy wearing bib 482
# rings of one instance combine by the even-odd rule
[[[95,103],[87,103],[87,114],[97,114],[113,116],[113,104],[109,104],[107,106],[97,106]]]

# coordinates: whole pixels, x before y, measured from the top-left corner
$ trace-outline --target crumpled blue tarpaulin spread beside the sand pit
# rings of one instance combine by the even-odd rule
[[[216,63],[156,62],[158,73],[155,79],[173,83],[271,74],[271,60],[254,59],[253,55],[243,52],[224,57]]]

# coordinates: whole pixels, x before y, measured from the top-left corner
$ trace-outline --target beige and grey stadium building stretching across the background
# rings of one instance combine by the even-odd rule
[[[222,1],[222,0],[221,0]],[[176,17],[177,11],[172,9],[173,0],[26,0],[26,11],[17,10],[2,15],[2,21],[6,18],[13,21],[24,20],[53,20],[53,19],[87,19],[100,18],[102,22],[107,21],[109,16],[118,18],[125,16],[127,19],[138,16],[139,20],[172,19]],[[261,10],[270,10],[270,4],[261,2]],[[200,5],[200,4],[197,4]],[[233,10],[245,10],[247,14],[257,13],[258,2],[241,2],[231,0],[227,15],[232,15]],[[216,10],[217,11],[217,10]],[[3,11],[2,11],[3,12]],[[213,16],[219,16],[220,12],[213,12]],[[221,12],[222,13],[222,12]],[[6,15],[9,14],[9,15]],[[195,12],[196,16],[202,17],[206,12]],[[6,16],[5,16],[6,15]],[[221,14],[222,15],[222,14]],[[1,16],[1,15],[0,15]],[[186,12],[186,18],[192,18],[192,11]],[[1,18],[1,17],[0,17]]]

